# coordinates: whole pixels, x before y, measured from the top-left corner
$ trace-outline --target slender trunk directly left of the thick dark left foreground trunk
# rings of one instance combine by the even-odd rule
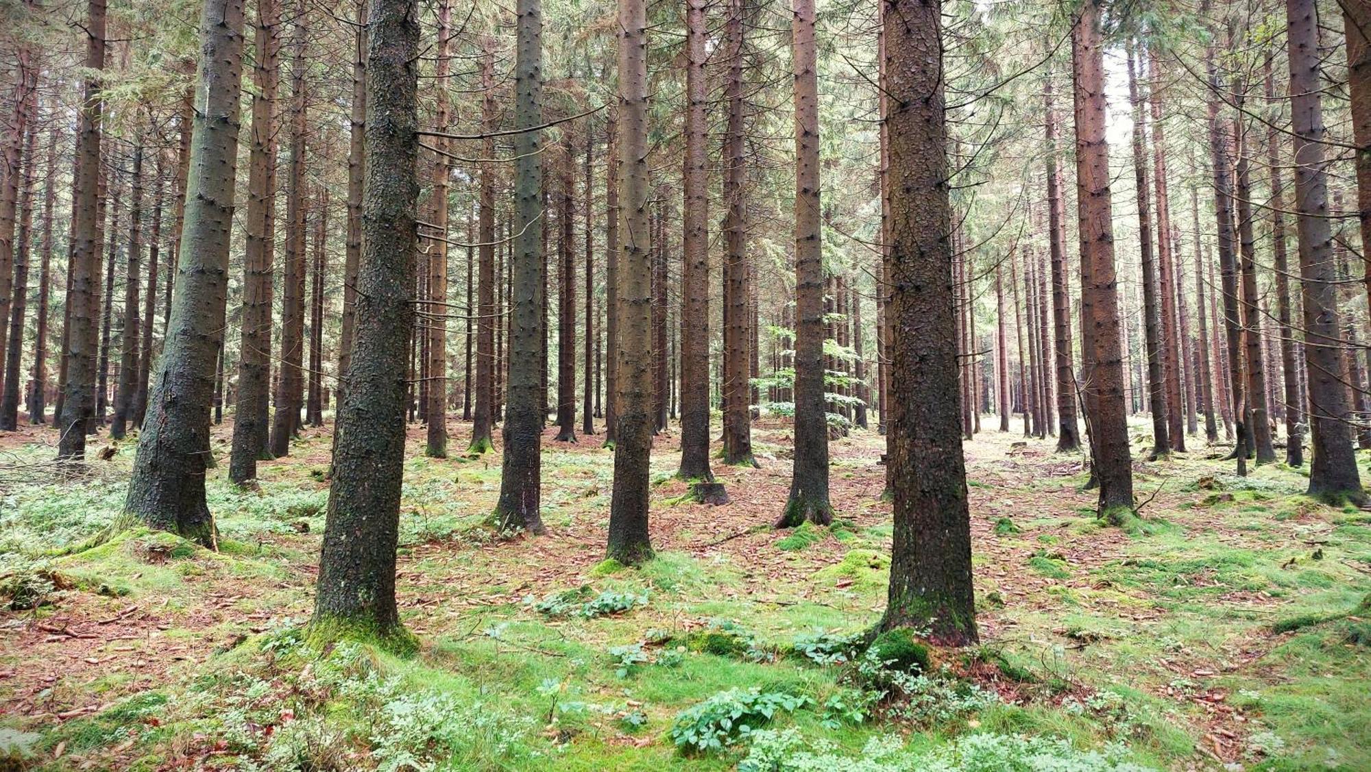
[[[362,186],[366,181],[366,30],[367,3],[355,0],[352,37],[352,103],[348,105],[347,245],[343,257],[343,324],[339,335],[339,378],[335,402],[343,408],[352,368],[352,334],[356,329],[356,271],[362,261]],[[489,164],[481,164],[483,167]],[[335,417],[336,420],[336,417]],[[335,443],[337,433],[335,431]]]

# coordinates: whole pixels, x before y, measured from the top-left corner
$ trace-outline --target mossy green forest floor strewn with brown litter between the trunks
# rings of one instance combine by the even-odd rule
[[[679,501],[666,433],[658,558],[627,569],[602,563],[600,438],[548,430],[548,535],[499,539],[498,452],[425,459],[414,427],[398,576],[421,642],[409,658],[302,639],[326,430],[240,491],[225,479],[230,428],[215,427],[218,553],[143,530],[86,548],[121,509],[132,439],[60,482],[44,464],[53,430],[0,435],[0,768],[729,769],[747,742],[684,754],[672,727],[757,687],[788,695],[771,728],[794,727],[786,742],[809,756],[753,769],[834,769],[864,746],[872,765],[850,769],[906,768],[875,765],[886,741],[868,743],[890,735],[942,768],[1004,768],[975,767],[969,746],[964,767],[936,756],[991,732],[1148,768],[1371,769],[1371,615],[1356,612],[1371,513],[1304,497],[1283,465],[1237,478],[1222,448],[1189,438],[1189,454],[1137,463],[1141,520],[1106,527],[1079,456],[986,420],[965,449],[983,645],[949,664],[960,680],[924,683],[903,709],[869,704],[842,662],[840,634],[868,628],[886,598],[875,433],[831,443],[835,526],[792,532],[769,528],[790,482],[786,426],[755,428],[760,468],[716,465],[724,506]],[[469,426],[451,428],[459,452]],[[1105,756],[1071,768],[1115,768]]]

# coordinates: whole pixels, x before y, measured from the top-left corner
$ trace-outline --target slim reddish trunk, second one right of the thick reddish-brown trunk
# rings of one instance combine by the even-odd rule
[[[1182,361],[1185,361],[1185,338],[1180,333],[1175,274],[1179,261],[1172,253],[1171,242],[1171,192],[1167,185],[1167,140],[1161,119],[1161,66],[1152,49],[1138,53],[1138,68],[1148,66],[1150,79],[1149,105],[1152,112],[1152,181],[1157,192],[1157,281],[1161,287],[1161,376],[1165,379],[1167,394],[1167,441],[1171,449],[1186,452],[1186,427],[1183,409],[1186,400],[1180,386]],[[1191,408],[1193,415],[1193,408]]]

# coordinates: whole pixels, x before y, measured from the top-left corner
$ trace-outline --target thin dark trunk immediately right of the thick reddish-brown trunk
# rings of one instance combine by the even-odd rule
[[[1142,97],[1138,94],[1138,79],[1134,73],[1134,49],[1128,47],[1128,101],[1132,104],[1132,181],[1138,193],[1138,242],[1142,250],[1142,318],[1143,337],[1148,346],[1148,408],[1152,411],[1152,454],[1163,459],[1171,454],[1169,422],[1167,409],[1167,381],[1161,375],[1161,313],[1157,303],[1156,257],[1152,250],[1152,201],[1148,188],[1146,140],[1143,138]],[[1158,231],[1158,235],[1160,231]],[[1161,238],[1165,241],[1165,237]],[[1161,285],[1165,293],[1165,283]],[[1168,341],[1169,342],[1169,341]]]

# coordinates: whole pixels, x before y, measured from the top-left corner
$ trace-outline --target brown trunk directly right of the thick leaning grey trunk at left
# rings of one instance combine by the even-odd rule
[[[243,320],[239,345],[239,397],[233,413],[229,479],[256,478],[258,460],[271,457],[271,296],[276,252],[276,119],[280,82],[281,10],[258,0],[252,48],[252,129],[248,145],[248,205],[243,222]],[[351,330],[348,330],[351,333]]]

